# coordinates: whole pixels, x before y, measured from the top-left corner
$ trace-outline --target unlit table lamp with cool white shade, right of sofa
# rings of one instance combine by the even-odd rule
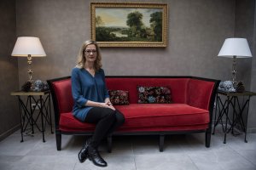
[[[218,53],[218,57],[233,58],[232,83],[236,84],[236,58],[253,57],[246,38],[227,38]]]

